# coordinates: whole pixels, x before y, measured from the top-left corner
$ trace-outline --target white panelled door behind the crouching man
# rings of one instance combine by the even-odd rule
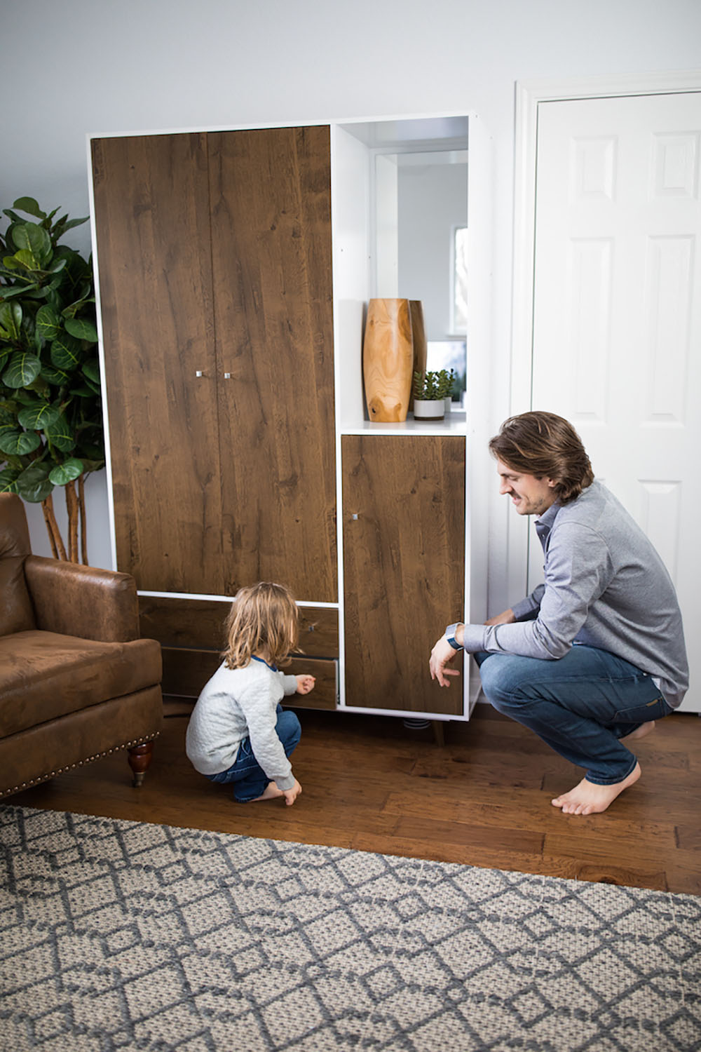
[[[664,559],[687,711],[701,711],[700,147],[701,93],[538,106],[532,406],[572,421]]]

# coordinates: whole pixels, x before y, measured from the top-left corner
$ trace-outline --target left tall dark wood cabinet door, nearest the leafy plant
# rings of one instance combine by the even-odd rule
[[[94,140],[92,169],[118,568],[219,594],[207,137]]]

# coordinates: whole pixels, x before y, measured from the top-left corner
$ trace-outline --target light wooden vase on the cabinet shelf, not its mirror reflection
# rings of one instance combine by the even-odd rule
[[[370,300],[363,342],[363,379],[370,420],[407,419],[414,366],[409,300]]]

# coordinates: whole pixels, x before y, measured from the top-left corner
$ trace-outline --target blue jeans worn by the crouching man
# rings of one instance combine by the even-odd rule
[[[607,650],[576,645],[556,661],[474,658],[494,708],[585,768],[596,785],[615,785],[634,770],[636,757],[619,739],[673,711],[650,675]]]

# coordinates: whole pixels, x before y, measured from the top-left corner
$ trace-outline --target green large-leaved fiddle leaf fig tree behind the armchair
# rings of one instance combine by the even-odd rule
[[[0,234],[0,492],[41,503],[51,550],[87,562],[84,480],[104,467],[90,262],[61,238],[84,219],[55,219],[34,198],[4,208]],[[29,219],[23,218],[29,216]],[[68,546],[54,514],[62,487]]]

